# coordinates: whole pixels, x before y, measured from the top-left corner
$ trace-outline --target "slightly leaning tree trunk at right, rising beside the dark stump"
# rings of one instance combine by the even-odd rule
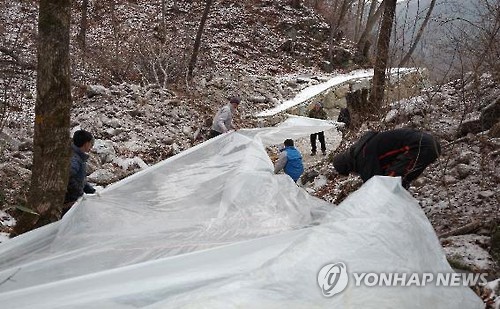
[[[391,41],[392,24],[396,11],[396,0],[384,0],[386,2],[382,25],[377,42],[377,56],[375,67],[373,68],[372,89],[370,92],[369,104],[372,110],[379,110],[384,99],[385,70],[389,57],[389,43]]]

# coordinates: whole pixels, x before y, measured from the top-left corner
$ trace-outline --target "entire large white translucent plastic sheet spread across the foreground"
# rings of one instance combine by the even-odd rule
[[[333,207],[273,174],[263,145],[331,128],[298,117],[224,134],[87,197],[61,221],[0,245],[0,304],[481,308],[462,287],[350,282],[322,296],[317,273],[337,261],[357,272],[451,271],[398,179],[374,178]]]

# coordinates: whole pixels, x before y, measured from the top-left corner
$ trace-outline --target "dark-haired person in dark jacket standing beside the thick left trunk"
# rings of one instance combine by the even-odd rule
[[[94,137],[90,132],[78,130],[73,134],[71,165],[68,189],[64,198],[65,211],[73,205],[83,193],[95,193],[95,189],[87,183],[87,154],[94,145]]]

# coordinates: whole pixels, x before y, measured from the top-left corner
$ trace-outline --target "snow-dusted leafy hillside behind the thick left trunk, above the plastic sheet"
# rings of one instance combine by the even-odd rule
[[[0,11],[5,33],[1,86],[9,106],[2,113],[2,179],[9,179],[2,196],[7,207],[24,204],[30,174],[35,4],[4,2]],[[320,71],[328,51],[328,27],[311,9],[292,9],[285,1],[217,1],[205,26],[194,79],[188,82],[185,68],[204,2],[168,2],[163,25],[160,3],[91,1],[85,44],[81,5],[74,3],[72,16],[71,126],[109,140],[100,148],[105,154],[91,164],[91,171],[114,164],[112,176],[101,172],[109,176],[102,184],[137,171],[140,161],[152,164],[199,142],[206,123],[230,95],[244,98],[240,121],[256,125],[256,111],[318,82],[298,76]],[[112,163],[107,151],[120,160]]]

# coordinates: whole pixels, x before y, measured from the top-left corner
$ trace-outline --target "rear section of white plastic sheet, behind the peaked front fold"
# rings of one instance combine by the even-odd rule
[[[300,128],[307,136],[318,124],[304,120]],[[197,145],[79,201],[61,221],[2,243],[0,293],[310,225],[329,204],[274,175],[252,134]]]

